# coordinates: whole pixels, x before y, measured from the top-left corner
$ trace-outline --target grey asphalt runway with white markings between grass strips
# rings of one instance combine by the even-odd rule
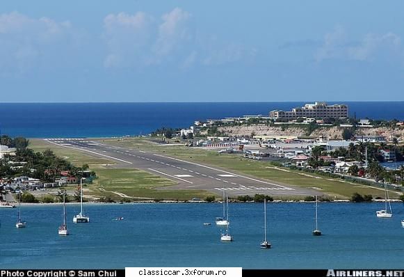
[[[154,152],[125,149],[106,145],[89,139],[45,139],[48,143],[86,152],[94,157],[104,157],[118,163],[119,167],[138,168],[154,175],[177,182],[162,189],[203,189],[221,195],[223,190],[229,196],[270,194],[270,195],[314,195],[318,191],[276,184],[268,180],[227,171],[223,168],[207,166],[192,161],[184,161]]]

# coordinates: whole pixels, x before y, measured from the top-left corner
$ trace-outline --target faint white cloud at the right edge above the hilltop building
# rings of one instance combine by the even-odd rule
[[[377,58],[391,60],[392,57],[404,56],[401,38],[395,33],[368,33],[356,42],[350,42],[344,28],[337,26],[327,33],[323,45],[317,49],[314,58],[317,62],[328,59],[345,59],[353,61],[373,61]]]

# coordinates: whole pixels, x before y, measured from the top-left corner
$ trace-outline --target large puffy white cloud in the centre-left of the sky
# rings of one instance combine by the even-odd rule
[[[243,58],[250,61],[257,49],[198,33],[193,16],[174,8],[159,19],[138,12],[110,14],[104,19],[108,54],[106,68],[143,68],[170,65],[181,69],[196,65],[222,65]]]

